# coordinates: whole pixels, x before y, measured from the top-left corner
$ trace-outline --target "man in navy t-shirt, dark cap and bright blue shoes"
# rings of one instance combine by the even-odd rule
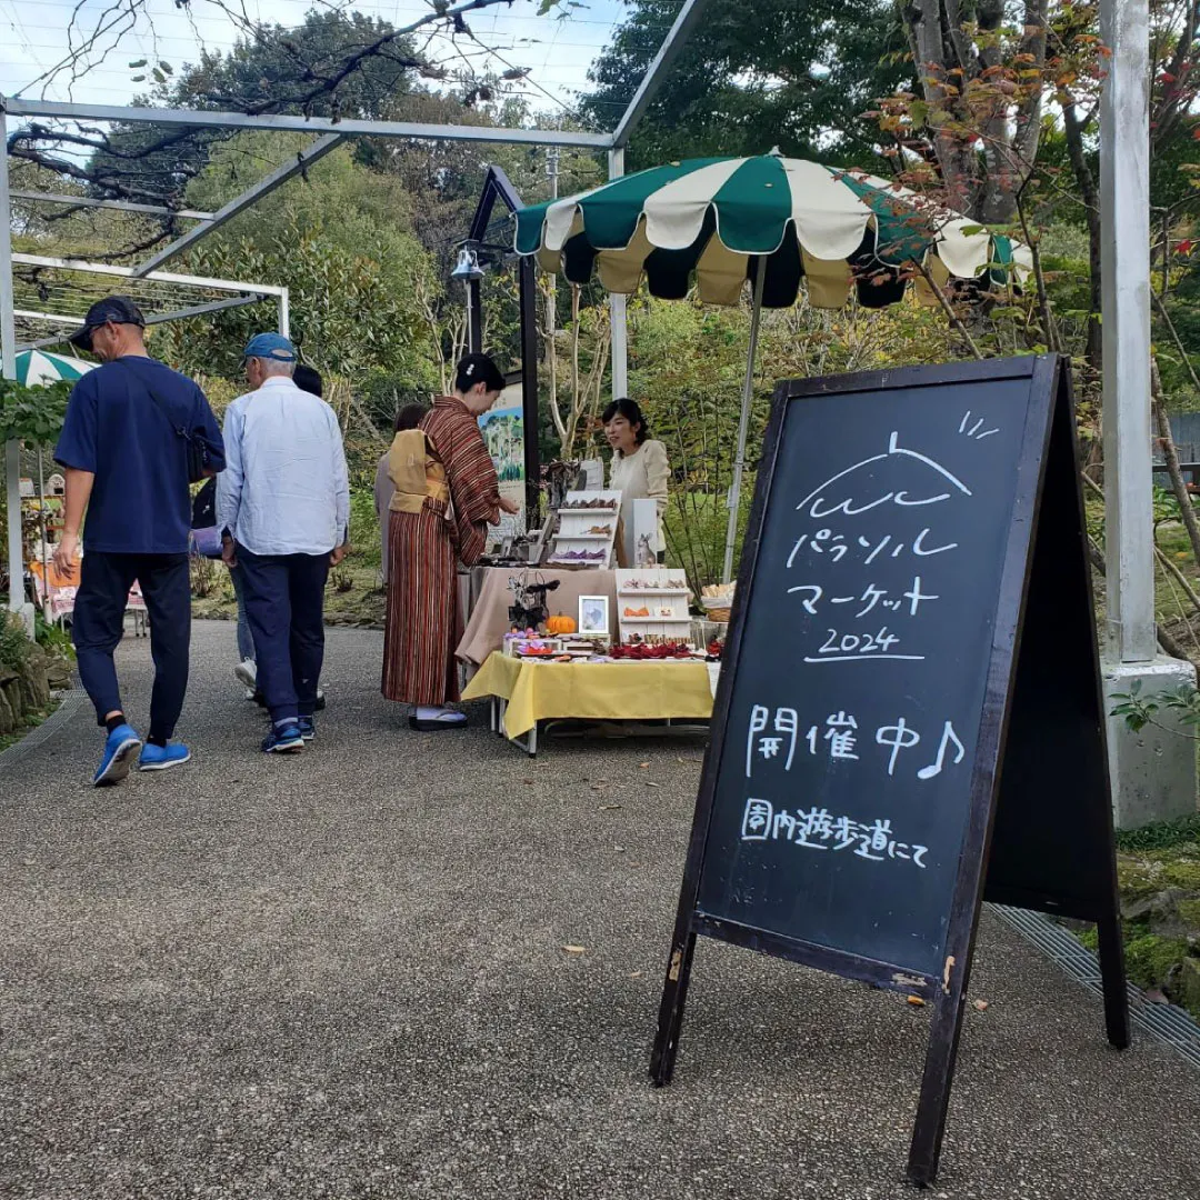
[[[66,472],[65,530],[54,551],[64,572],[76,569],[88,514],[72,637],[79,678],[107,730],[92,778],[97,787],[122,780],[139,750],[143,770],[191,757],[187,746],[170,744],[187,690],[192,631],[190,446],[202,451],[206,474],[224,468],[221,432],[204,394],[146,354],[144,328],[127,296],[108,296],[88,310],[71,341],[103,366],[74,385],[54,451]],[[155,664],[144,746],[126,720],[113,664],[134,580],[150,617]]]

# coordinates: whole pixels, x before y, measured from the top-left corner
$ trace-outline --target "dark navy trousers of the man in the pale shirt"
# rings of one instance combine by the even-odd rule
[[[312,716],[325,658],[329,554],[253,554],[238,546],[238,565],[271,720]]]

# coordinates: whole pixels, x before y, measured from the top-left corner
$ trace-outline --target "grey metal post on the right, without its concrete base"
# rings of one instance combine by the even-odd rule
[[[1100,136],[1104,331],[1104,530],[1109,653],[1154,658],[1150,430],[1150,13],[1104,0],[1112,52]]]

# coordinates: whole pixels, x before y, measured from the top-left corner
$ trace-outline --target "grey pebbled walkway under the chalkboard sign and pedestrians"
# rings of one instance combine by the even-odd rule
[[[210,624],[191,766],[85,787],[83,710],[0,760],[0,1196],[911,1195],[901,997],[702,941],[676,1082],[647,1084],[698,738],[414,734],[380,649],[331,631],[295,758],[256,751]],[[146,643],[121,655],[142,716]],[[1110,1050],[991,917],[972,992],[930,1195],[1200,1195],[1200,1072]]]

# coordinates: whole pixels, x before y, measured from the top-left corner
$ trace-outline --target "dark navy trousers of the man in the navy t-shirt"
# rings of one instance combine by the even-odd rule
[[[83,556],[71,637],[79,660],[79,679],[96,707],[96,720],[124,712],[113,652],[125,631],[125,607],[137,580],[150,618],[154,692],[150,737],[166,742],[175,732],[187,692],[192,638],[192,586],[187,554]]]

